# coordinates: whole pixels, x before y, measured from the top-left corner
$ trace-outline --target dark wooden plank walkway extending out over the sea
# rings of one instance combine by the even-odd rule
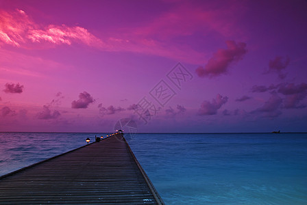
[[[0,178],[0,204],[164,204],[121,134]]]

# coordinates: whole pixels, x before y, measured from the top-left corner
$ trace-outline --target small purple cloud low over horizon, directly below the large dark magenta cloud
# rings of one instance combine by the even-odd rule
[[[221,96],[217,94],[215,99],[212,99],[212,102],[204,101],[201,103],[201,108],[199,109],[199,115],[215,115],[217,114],[217,110],[221,108],[228,101],[228,97]]]

